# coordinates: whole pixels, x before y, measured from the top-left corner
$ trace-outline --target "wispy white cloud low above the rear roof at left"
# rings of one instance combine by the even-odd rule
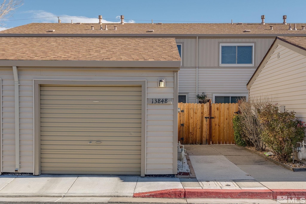
[[[24,13],[31,13],[32,16],[31,18],[41,18],[41,19],[33,19],[33,22],[39,22],[39,23],[58,23],[58,17],[57,15],[55,15],[54,13],[50,13],[47,11],[43,11],[43,10],[31,10],[31,11],[26,11]],[[46,18],[46,17],[50,17],[50,18]],[[117,16],[120,19],[120,16]],[[116,17],[116,19],[118,19]],[[60,19],[62,21],[62,23],[99,23],[99,19],[98,18],[88,18],[85,16],[69,16],[69,15],[60,15]],[[104,20],[102,19],[102,23],[120,23],[121,20],[119,21],[108,21],[108,20]],[[125,23],[135,23],[134,20],[129,20],[129,21],[125,21]]]

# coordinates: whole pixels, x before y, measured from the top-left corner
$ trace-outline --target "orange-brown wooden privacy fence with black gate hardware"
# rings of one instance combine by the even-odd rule
[[[238,103],[178,103],[182,144],[235,144],[233,116]]]

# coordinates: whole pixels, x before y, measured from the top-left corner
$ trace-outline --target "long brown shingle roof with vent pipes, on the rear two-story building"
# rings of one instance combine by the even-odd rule
[[[105,29],[103,24],[103,29]],[[289,24],[204,24],[204,23],[174,23],[174,24],[144,24],[125,23],[107,24],[108,30],[100,30],[99,24],[67,24],[67,23],[31,23],[16,28],[10,28],[1,33],[11,34],[306,34],[301,30],[306,24],[297,24],[297,30],[288,30]],[[94,26],[94,30],[91,30]],[[117,26],[117,30],[114,30]],[[273,26],[273,30],[270,30]],[[294,24],[292,24],[292,29]],[[55,30],[55,32],[47,32]],[[147,32],[154,30],[154,32]],[[251,32],[244,32],[251,30]]]

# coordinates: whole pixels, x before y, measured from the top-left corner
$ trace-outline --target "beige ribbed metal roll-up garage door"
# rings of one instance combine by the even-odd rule
[[[140,175],[141,87],[41,86],[41,173]]]

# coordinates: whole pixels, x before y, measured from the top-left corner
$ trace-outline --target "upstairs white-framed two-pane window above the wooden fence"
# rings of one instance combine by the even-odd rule
[[[220,44],[220,66],[254,66],[254,44]]]

